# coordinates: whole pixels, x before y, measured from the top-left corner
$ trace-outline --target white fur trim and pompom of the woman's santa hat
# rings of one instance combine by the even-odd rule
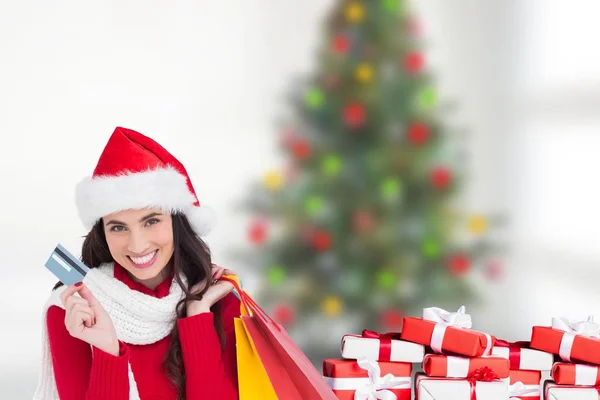
[[[158,208],[165,213],[186,215],[196,234],[206,235],[216,222],[206,206],[195,206],[187,179],[172,167],[87,177],[77,184],[75,202],[86,229],[102,217],[123,210]]]

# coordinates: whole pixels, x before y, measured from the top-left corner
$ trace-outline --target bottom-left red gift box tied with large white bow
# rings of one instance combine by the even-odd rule
[[[395,400],[411,400],[411,374],[410,363],[368,358],[323,361],[323,377],[340,400],[368,400],[386,393]]]

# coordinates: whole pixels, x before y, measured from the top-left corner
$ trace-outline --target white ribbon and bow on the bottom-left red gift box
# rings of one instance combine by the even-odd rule
[[[361,358],[358,366],[367,371],[368,378],[324,377],[332,390],[355,390],[354,400],[397,400],[398,397],[386,389],[410,389],[411,378],[397,378],[392,374],[381,377],[379,363],[373,359]]]

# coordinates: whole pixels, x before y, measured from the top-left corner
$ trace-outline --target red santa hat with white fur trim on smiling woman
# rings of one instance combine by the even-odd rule
[[[200,206],[183,164],[151,138],[121,127],[108,140],[92,176],[77,185],[75,198],[86,229],[105,215],[141,208],[182,213],[199,236],[216,223],[214,211]]]

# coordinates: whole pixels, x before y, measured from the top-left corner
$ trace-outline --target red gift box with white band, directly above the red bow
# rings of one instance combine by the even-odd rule
[[[498,378],[508,377],[508,360],[500,357],[456,357],[428,354],[423,359],[427,376],[466,378],[483,367],[488,367]]]

